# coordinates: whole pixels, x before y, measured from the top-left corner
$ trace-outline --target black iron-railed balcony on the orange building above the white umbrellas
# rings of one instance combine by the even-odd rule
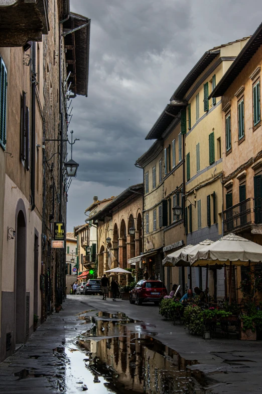
[[[255,233],[259,224],[262,233],[262,198],[247,198],[223,211],[224,234],[244,230]]]

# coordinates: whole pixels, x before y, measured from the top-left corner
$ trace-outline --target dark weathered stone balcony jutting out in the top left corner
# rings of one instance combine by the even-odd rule
[[[42,41],[48,34],[48,0],[0,0],[2,47],[23,46]]]

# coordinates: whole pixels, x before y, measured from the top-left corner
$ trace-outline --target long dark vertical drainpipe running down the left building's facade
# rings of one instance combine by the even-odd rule
[[[35,176],[36,176],[36,43],[32,46],[32,102],[31,102],[31,211],[36,207],[35,204]]]

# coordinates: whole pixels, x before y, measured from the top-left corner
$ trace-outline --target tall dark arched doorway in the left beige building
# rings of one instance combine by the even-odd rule
[[[24,343],[29,335],[29,316],[26,319],[26,245],[26,220],[20,210],[16,234],[16,343]]]

